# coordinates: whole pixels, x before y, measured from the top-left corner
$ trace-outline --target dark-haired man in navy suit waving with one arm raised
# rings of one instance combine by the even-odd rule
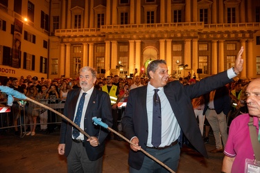
[[[125,136],[135,145],[130,145],[128,163],[130,172],[167,172],[167,170],[140,152],[140,147],[159,161],[162,161],[173,171],[177,171],[180,158],[180,147],[177,138],[182,129],[184,135],[198,152],[207,157],[200,129],[194,115],[191,99],[208,93],[232,81],[243,69],[241,55],[243,47],[237,55],[232,69],[205,78],[192,85],[183,86],[178,81],[168,82],[168,68],[164,60],[150,62],[147,74],[150,82],[130,91],[125,116],[122,119]],[[159,91],[158,91],[159,89]],[[161,104],[162,127],[153,130],[153,113],[155,95],[159,95]],[[153,133],[161,131],[160,145],[153,145]],[[159,136],[159,135],[158,135]]]

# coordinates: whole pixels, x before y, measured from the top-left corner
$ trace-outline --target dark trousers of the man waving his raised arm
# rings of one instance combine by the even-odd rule
[[[166,149],[146,148],[146,152],[157,158],[159,161],[162,161],[162,163],[170,167],[174,172],[177,172],[177,166],[180,160],[180,145],[177,144]],[[153,161],[148,156],[144,156],[144,163],[140,170],[135,170],[132,167],[129,167],[129,170],[130,173],[168,172],[166,168],[162,167],[162,165],[159,165],[159,163]]]

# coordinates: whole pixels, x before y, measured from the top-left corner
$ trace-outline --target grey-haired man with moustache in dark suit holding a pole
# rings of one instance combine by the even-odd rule
[[[101,118],[109,127],[112,127],[112,112],[110,96],[94,88],[96,71],[85,66],[80,69],[80,89],[69,91],[64,105],[64,116],[76,123],[80,120],[80,128],[91,136],[87,138],[78,134],[78,130],[62,120],[60,129],[60,144],[58,153],[67,156],[68,172],[102,172],[102,159],[105,149],[105,138],[108,134],[106,129],[93,124],[92,117]],[[80,100],[85,95],[83,108],[78,109]],[[83,97],[82,97],[83,96]],[[80,104],[79,104],[80,103]],[[77,110],[78,109],[78,110]],[[78,111],[82,116],[78,118]]]

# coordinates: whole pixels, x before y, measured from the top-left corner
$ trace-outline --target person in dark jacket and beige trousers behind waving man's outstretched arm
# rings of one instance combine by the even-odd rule
[[[203,115],[209,121],[216,141],[216,148],[211,153],[223,152],[223,145],[227,143],[227,113],[230,110],[229,90],[226,86],[211,91],[205,97]]]

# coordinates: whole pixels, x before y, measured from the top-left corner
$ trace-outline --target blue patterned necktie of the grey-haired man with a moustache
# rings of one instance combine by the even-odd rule
[[[76,117],[74,120],[75,124],[78,125],[78,127],[80,127],[80,121],[81,121],[81,117],[82,117],[82,111],[83,111],[86,94],[87,93],[82,94],[82,96],[80,98],[80,102],[78,103],[78,110],[77,110]],[[76,139],[76,138],[78,138],[78,136],[80,136],[80,131],[78,131],[78,129],[73,127],[72,134],[73,134],[73,137]]]

